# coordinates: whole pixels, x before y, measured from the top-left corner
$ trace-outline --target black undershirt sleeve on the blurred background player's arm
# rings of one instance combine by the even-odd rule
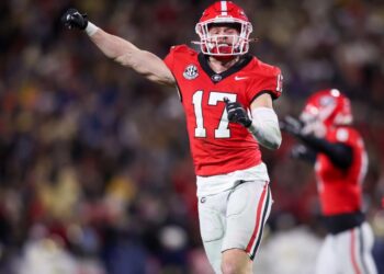
[[[298,138],[315,152],[328,156],[330,161],[338,168],[347,170],[352,164],[352,148],[342,142],[330,142],[313,135],[301,135]]]

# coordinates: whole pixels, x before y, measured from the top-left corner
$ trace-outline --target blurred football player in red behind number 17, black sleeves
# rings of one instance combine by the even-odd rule
[[[285,117],[282,130],[301,145],[294,158],[315,163],[317,190],[327,236],[316,274],[377,273],[373,232],[362,212],[362,183],[368,168],[364,142],[352,126],[349,99],[337,89],[315,92],[300,119]]]

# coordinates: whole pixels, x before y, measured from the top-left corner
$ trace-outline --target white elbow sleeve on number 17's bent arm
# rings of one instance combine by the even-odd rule
[[[256,107],[252,110],[252,124],[248,130],[258,142],[269,149],[278,149],[281,145],[281,132],[278,115],[272,109]]]

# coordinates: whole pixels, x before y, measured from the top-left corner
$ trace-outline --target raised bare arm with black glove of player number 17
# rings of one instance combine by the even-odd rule
[[[173,75],[158,56],[139,49],[126,39],[104,32],[91,22],[88,22],[87,16],[80,14],[77,10],[68,10],[63,15],[61,22],[69,30],[79,28],[84,31],[105,56],[134,69],[150,81],[166,85],[176,84]]]

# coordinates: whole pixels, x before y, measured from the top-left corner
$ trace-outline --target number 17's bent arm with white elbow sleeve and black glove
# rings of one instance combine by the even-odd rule
[[[266,148],[278,149],[281,145],[281,132],[278,115],[273,111],[272,98],[269,93],[259,95],[250,105],[252,119],[238,102],[225,100],[228,121],[239,123],[253,134]]]

